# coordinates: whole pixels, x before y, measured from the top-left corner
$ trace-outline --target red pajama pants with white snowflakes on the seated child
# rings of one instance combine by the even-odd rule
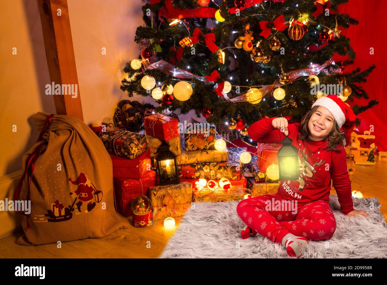
[[[236,212],[248,227],[279,244],[288,233],[308,240],[326,240],[334,234],[336,220],[327,201],[319,200],[298,206],[292,213],[290,207],[274,209],[273,198],[274,202],[288,201],[279,194],[252,197],[242,200]]]

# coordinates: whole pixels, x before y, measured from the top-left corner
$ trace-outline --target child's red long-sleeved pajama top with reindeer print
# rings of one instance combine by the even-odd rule
[[[277,117],[261,119],[252,124],[248,128],[250,138],[258,143],[281,144],[286,136],[272,125],[274,118]],[[329,202],[332,179],[341,211],[347,215],[353,211],[353,201],[345,149],[342,148],[340,152],[322,149],[328,141],[298,139],[300,127],[300,123],[288,125],[288,137],[293,146],[299,149],[300,177],[298,180],[280,181],[278,194],[284,199],[297,201],[298,207],[317,200]]]

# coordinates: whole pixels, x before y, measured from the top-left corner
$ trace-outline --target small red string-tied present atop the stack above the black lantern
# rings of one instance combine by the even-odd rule
[[[144,118],[144,127],[147,135],[169,141],[180,137],[178,122],[178,119],[156,113]]]

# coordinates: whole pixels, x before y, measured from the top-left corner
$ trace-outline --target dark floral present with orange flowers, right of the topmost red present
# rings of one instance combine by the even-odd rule
[[[184,136],[184,148],[186,151],[215,149],[215,141],[215,129],[210,127],[207,132],[186,133]]]

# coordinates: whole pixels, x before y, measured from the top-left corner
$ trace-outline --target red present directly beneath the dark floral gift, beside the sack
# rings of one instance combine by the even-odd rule
[[[110,157],[113,163],[114,178],[140,178],[151,168],[149,148],[132,160],[116,155],[110,155]]]

